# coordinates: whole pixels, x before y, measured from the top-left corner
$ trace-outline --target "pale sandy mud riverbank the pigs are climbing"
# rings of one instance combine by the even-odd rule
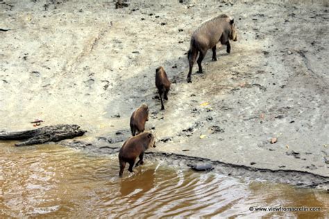
[[[102,151],[121,146],[147,103],[158,152],[329,177],[328,3],[0,3],[1,130],[76,123],[88,130],[78,141]],[[217,62],[208,51],[187,84],[190,36],[221,13],[235,17],[238,41]],[[173,82],[165,112],[160,65]]]

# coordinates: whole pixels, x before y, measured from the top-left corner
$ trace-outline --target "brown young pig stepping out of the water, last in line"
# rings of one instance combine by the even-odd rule
[[[144,151],[152,147],[155,148],[155,137],[151,132],[143,132],[126,140],[119,151],[119,176],[121,177],[124,173],[126,163],[129,164],[129,172],[133,173],[133,166],[137,157],[140,157],[140,160],[137,161],[136,166],[144,164]]]

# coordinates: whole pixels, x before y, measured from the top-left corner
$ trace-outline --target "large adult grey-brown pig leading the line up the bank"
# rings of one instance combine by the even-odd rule
[[[203,73],[201,62],[205,58],[205,53],[208,49],[212,49],[212,60],[217,60],[216,44],[226,45],[226,52],[230,53],[230,41],[237,41],[237,30],[234,24],[234,19],[230,19],[228,15],[219,15],[205,21],[197,28],[191,38],[187,58],[189,60],[189,74],[187,75],[187,82],[192,82],[191,74],[196,56],[199,53],[199,58],[196,62],[199,65],[199,73]]]

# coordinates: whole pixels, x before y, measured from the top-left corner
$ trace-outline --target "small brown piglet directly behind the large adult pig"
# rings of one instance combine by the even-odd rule
[[[170,89],[170,81],[163,67],[158,67],[155,71],[155,86],[158,88],[161,100],[161,110],[163,110],[165,109],[165,106],[163,105],[162,94],[164,94],[165,100],[168,100],[168,92]]]

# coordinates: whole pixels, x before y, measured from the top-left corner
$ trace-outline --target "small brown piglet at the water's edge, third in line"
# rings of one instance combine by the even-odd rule
[[[144,132],[146,121],[149,121],[149,107],[143,103],[130,117],[131,134],[135,136]]]

